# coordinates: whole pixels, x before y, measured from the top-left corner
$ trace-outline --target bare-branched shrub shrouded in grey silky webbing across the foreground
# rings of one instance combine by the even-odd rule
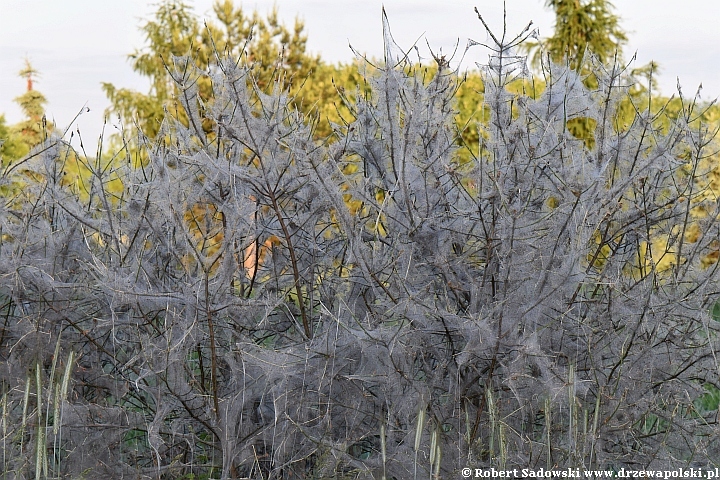
[[[618,126],[627,78],[601,65],[594,91],[552,66],[511,94],[524,59],[498,41],[462,163],[457,77],[386,45],[325,143],[280,83],[179,58],[188,121],[137,168],[72,184],[55,139],[5,172],[9,478],[714,465],[718,205],[692,109]]]

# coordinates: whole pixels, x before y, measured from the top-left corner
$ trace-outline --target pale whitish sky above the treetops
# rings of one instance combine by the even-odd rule
[[[142,48],[138,27],[152,15],[155,2],[141,0],[0,0],[0,114],[9,124],[21,119],[13,98],[25,90],[17,72],[31,60],[41,77],[35,88],[48,99],[48,117],[62,128],[80,128],[88,154],[94,153],[109,106],[101,82],[147,93],[148,83],[130,68],[127,55]],[[212,0],[189,2],[201,17],[211,13]],[[417,41],[427,56],[426,40],[434,50],[460,51],[468,38],[484,42],[477,7],[491,28],[502,30],[501,0],[248,0],[245,10],[267,13],[277,5],[280,18],[292,25],[305,21],[308,47],[330,62],[350,61],[348,44],[368,56],[382,57],[381,6],[384,4],[393,37],[403,48]],[[552,33],[552,13],[544,0],[507,0],[508,33],[519,33],[530,21],[541,37]],[[720,1],[615,0],[615,11],[628,32],[626,58],[637,51],[636,65],[660,64],[663,94],[692,96],[702,82],[702,98],[720,96]],[[458,55],[459,57],[459,55]],[[465,68],[485,62],[487,51],[475,47]],[[74,123],[83,106],[90,113]],[[112,125],[107,127],[114,131]],[[90,147],[92,146],[92,147]]]

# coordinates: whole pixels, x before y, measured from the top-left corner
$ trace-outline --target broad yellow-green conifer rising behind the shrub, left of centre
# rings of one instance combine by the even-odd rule
[[[154,18],[141,29],[147,44],[129,56],[133,70],[150,79],[147,94],[104,83],[103,89],[126,125],[137,125],[148,137],[155,137],[166,112],[181,120],[186,115],[173,101],[178,90],[169,73],[173,57],[190,54],[196,65],[207,71],[215,56],[227,54],[252,65],[255,81],[261,90],[272,88],[280,78],[292,92],[297,92],[311,72],[320,64],[318,56],[306,52],[307,37],[303,24],[295,20],[292,30],[282,25],[277,10],[263,19],[257,12],[247,15],[231,0],[218,0],[213,6],[214,18],[202,24],[191,7],[181,0],[159,4]],[[210,80],[197,79],[198,95],[203,102],[212,97]],[[296,105],[308,111],[307,102]]]

